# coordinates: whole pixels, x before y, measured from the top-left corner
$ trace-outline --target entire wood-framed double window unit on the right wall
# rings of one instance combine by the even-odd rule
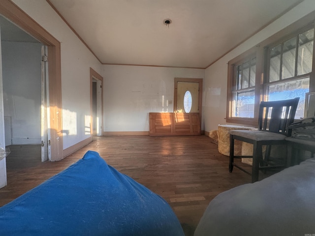
[[[301,19],[228,62],[226,122],[257,125],[260,101],[294,97],[295,118],[304,117],[305,94],[315,91],[313,22]]]

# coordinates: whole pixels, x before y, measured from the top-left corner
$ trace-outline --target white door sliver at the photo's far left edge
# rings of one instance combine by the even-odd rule
[[[1,26],[0,26],[1,27]],[[1,39],[1,35],[0,35]],[[3,83],[2,83],[2,57],[0,40],[0,148],[5,149],[4,113],[3,113]],[[0,188],[6,185],[6,158],[0,156]]]

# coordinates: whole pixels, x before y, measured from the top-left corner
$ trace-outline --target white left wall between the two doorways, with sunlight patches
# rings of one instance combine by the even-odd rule
[[[91,137],[90,67],[101,74],[101,64],[47,1],[13,2],[61,42],[63,149],[69,148]]]

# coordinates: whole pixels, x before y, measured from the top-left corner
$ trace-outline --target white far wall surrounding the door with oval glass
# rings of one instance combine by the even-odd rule
[[[103,65],[102,75],[103,131],[149,131],[149,112],[173,112],[174,78],[204,79],[205,70]]]

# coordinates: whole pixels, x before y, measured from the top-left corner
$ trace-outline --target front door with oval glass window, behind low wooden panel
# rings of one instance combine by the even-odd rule
[[[199,113],[198,82],[177,82],[176,111],[182,113]]]

